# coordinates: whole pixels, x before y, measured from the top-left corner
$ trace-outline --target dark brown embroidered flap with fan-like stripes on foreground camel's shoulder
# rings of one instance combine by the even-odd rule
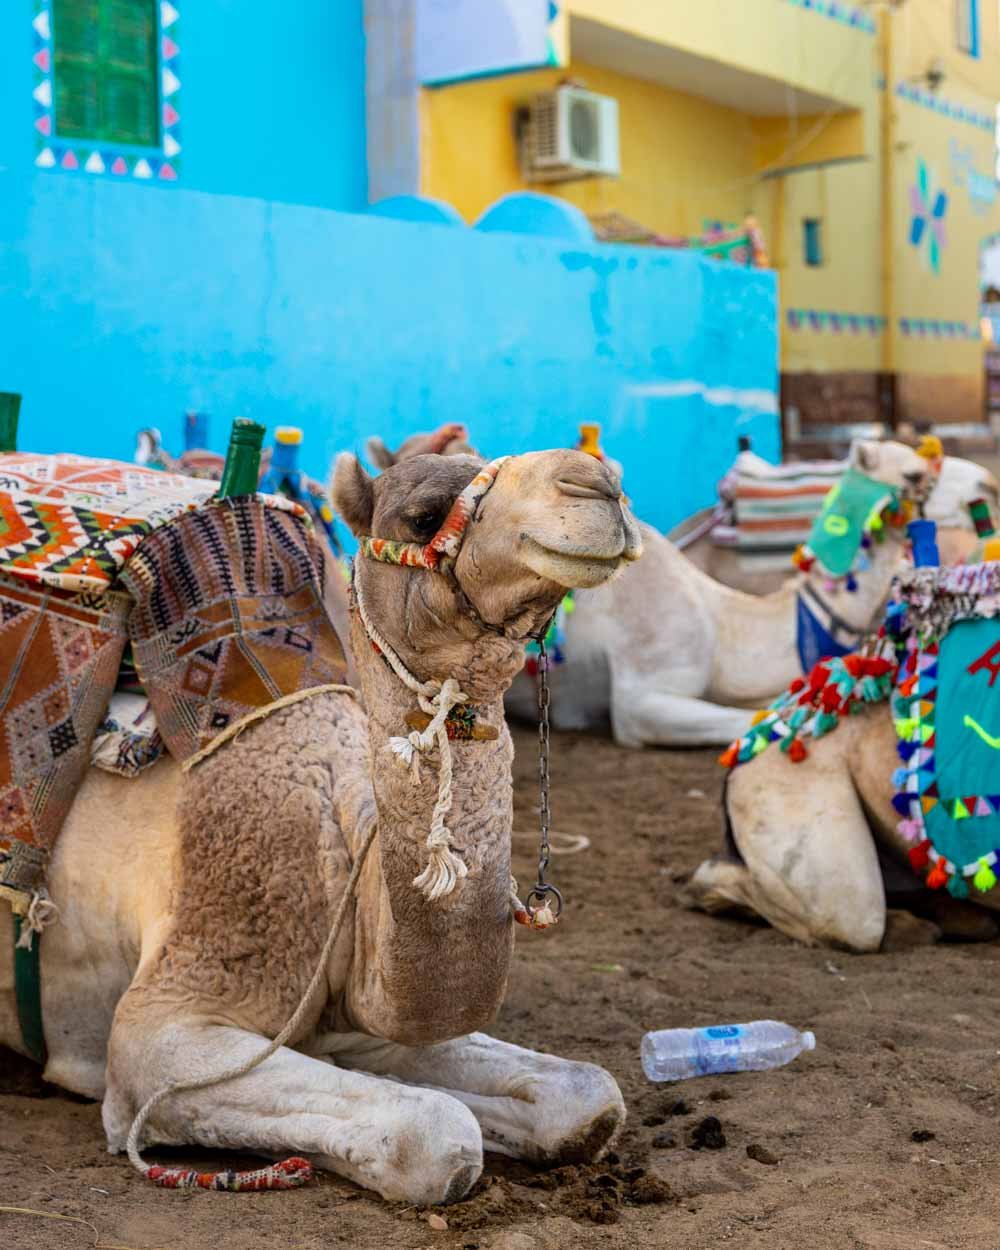
[[[121,582],[135,665],[178,760],[278,699],[344,681],[312,530],[258,496],[156,530]]]

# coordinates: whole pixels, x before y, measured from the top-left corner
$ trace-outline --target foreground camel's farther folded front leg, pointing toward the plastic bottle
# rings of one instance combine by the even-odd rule
[[[334,1035],[332,1048],[338,1064],[464,1102],[486,1149],[515,1159],[586,1162],[599,1158],[625,1122],[621,1091],[602,1068],[540,1055],[484,1032],[436,1046]]]

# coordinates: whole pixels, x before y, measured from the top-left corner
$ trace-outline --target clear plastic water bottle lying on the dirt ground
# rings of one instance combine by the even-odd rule
[[[708,1029],[660,1029],[642,1038],[642,1071],[651,1081],[682,1081],[718,1072],[760,1072],[814,1050],[811,1032],[779,1020],[720,1024]]]

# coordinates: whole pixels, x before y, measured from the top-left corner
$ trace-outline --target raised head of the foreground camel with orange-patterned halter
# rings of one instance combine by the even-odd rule
[[[499,635],[520,665],[569,588],[600,586],[641,554],[621,488],[592,456],[532,451],[494,466],[419,455],[371,478],[338,458],[332,501],[361,541],[358,590],[419,674],[468,671],[474,644]]]

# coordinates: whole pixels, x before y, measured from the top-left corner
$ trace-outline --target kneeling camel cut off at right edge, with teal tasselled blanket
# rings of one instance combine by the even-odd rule
[[[878,950],[886,895],[926,886],[945,931],[1000,910],[1000,544],[894,588],[866,654],[822,660],[722,755],[724,846],[690,901]]]

